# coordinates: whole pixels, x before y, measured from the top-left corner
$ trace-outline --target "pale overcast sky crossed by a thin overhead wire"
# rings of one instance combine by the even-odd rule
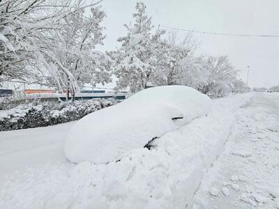
[[[104,0],[107,17],[104,49],[115,49],[116,39],[126,34],[124,23],[132,20],[135,0]],[[218,33],[279,35],[278,0],[149,0],[144,1],[154,25]],[[184,33],[184,32],[179,32]],[[279,84],[279,38],[254,38],[195,34],[199,51],[227,54],[249,86]]]

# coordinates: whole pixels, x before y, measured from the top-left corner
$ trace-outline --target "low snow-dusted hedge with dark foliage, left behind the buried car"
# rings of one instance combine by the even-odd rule
[[[43,127],[78,120],[87,114],[110,107],[116,100],[80,100],[75,102],[31,102],[0,111],[0,131]]]

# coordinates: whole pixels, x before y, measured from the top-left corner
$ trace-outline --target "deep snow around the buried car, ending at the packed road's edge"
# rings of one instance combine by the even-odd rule
[[[51,146],[44,149],[47,140],[60,138],[63,141],[73,123],[61,125],[63,128],[54,125],[29,129],[26,139],[20,135],[27,130],[0,132],[0,147],[8,144],[10,148],[8,153],[5,148],[0,150],[0,169],[8,174],[0,173],[0,208],[191,206],[202,176],[229,139],[236,112],[250,98],[252,94],[213,100],[213,109],[207,116],[200,116],[155,139],[153,149],[135,148],[127,151],[121,161],[108,164],[66,162],[58,155],[63,153],[58,142],[59,145],[54,146],[55,155]],[[14,140],[9,143],[10,137]],[[29,152],[18,147],[18,143],[24,144],[24,141],[30,143]],[[43,141],[41,146],[40,141]],[[35,142],[39,148],[31,147]],[[52,158],[49,163],[48,157]],[[38,161],[42,162],[40,166]],[[26,162],[29,162],[28,169],[16,171],[15,168],[19,168],[15,164]]]

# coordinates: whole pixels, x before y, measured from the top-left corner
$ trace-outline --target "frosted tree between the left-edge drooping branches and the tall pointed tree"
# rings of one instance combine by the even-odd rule
[[[80,2],[78,2],[80,3]],[[81,8],[82,6],[77,6]],[[64,18],[65,24],[61,27],[60,40],[56,42],[59,47],[54,47],[55,57],[62,66],[59,66],[59,79],[61,84],[75,95],[77,89],[70,85],[69,75],[63,68],[70,71],[77,84],[110,82],[110,68],[112,61],[110,56],[96,51],[96,45],[103,45],[103,26],[100,23],[105,13],[100,6],[91,7],[89,17],[84,15],[85,9],[77,10]]]

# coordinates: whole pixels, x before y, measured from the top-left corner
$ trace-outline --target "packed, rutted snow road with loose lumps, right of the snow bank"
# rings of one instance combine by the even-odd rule
[[[193,208],[279,208],[279,95],[257,94],[239,110]]]

